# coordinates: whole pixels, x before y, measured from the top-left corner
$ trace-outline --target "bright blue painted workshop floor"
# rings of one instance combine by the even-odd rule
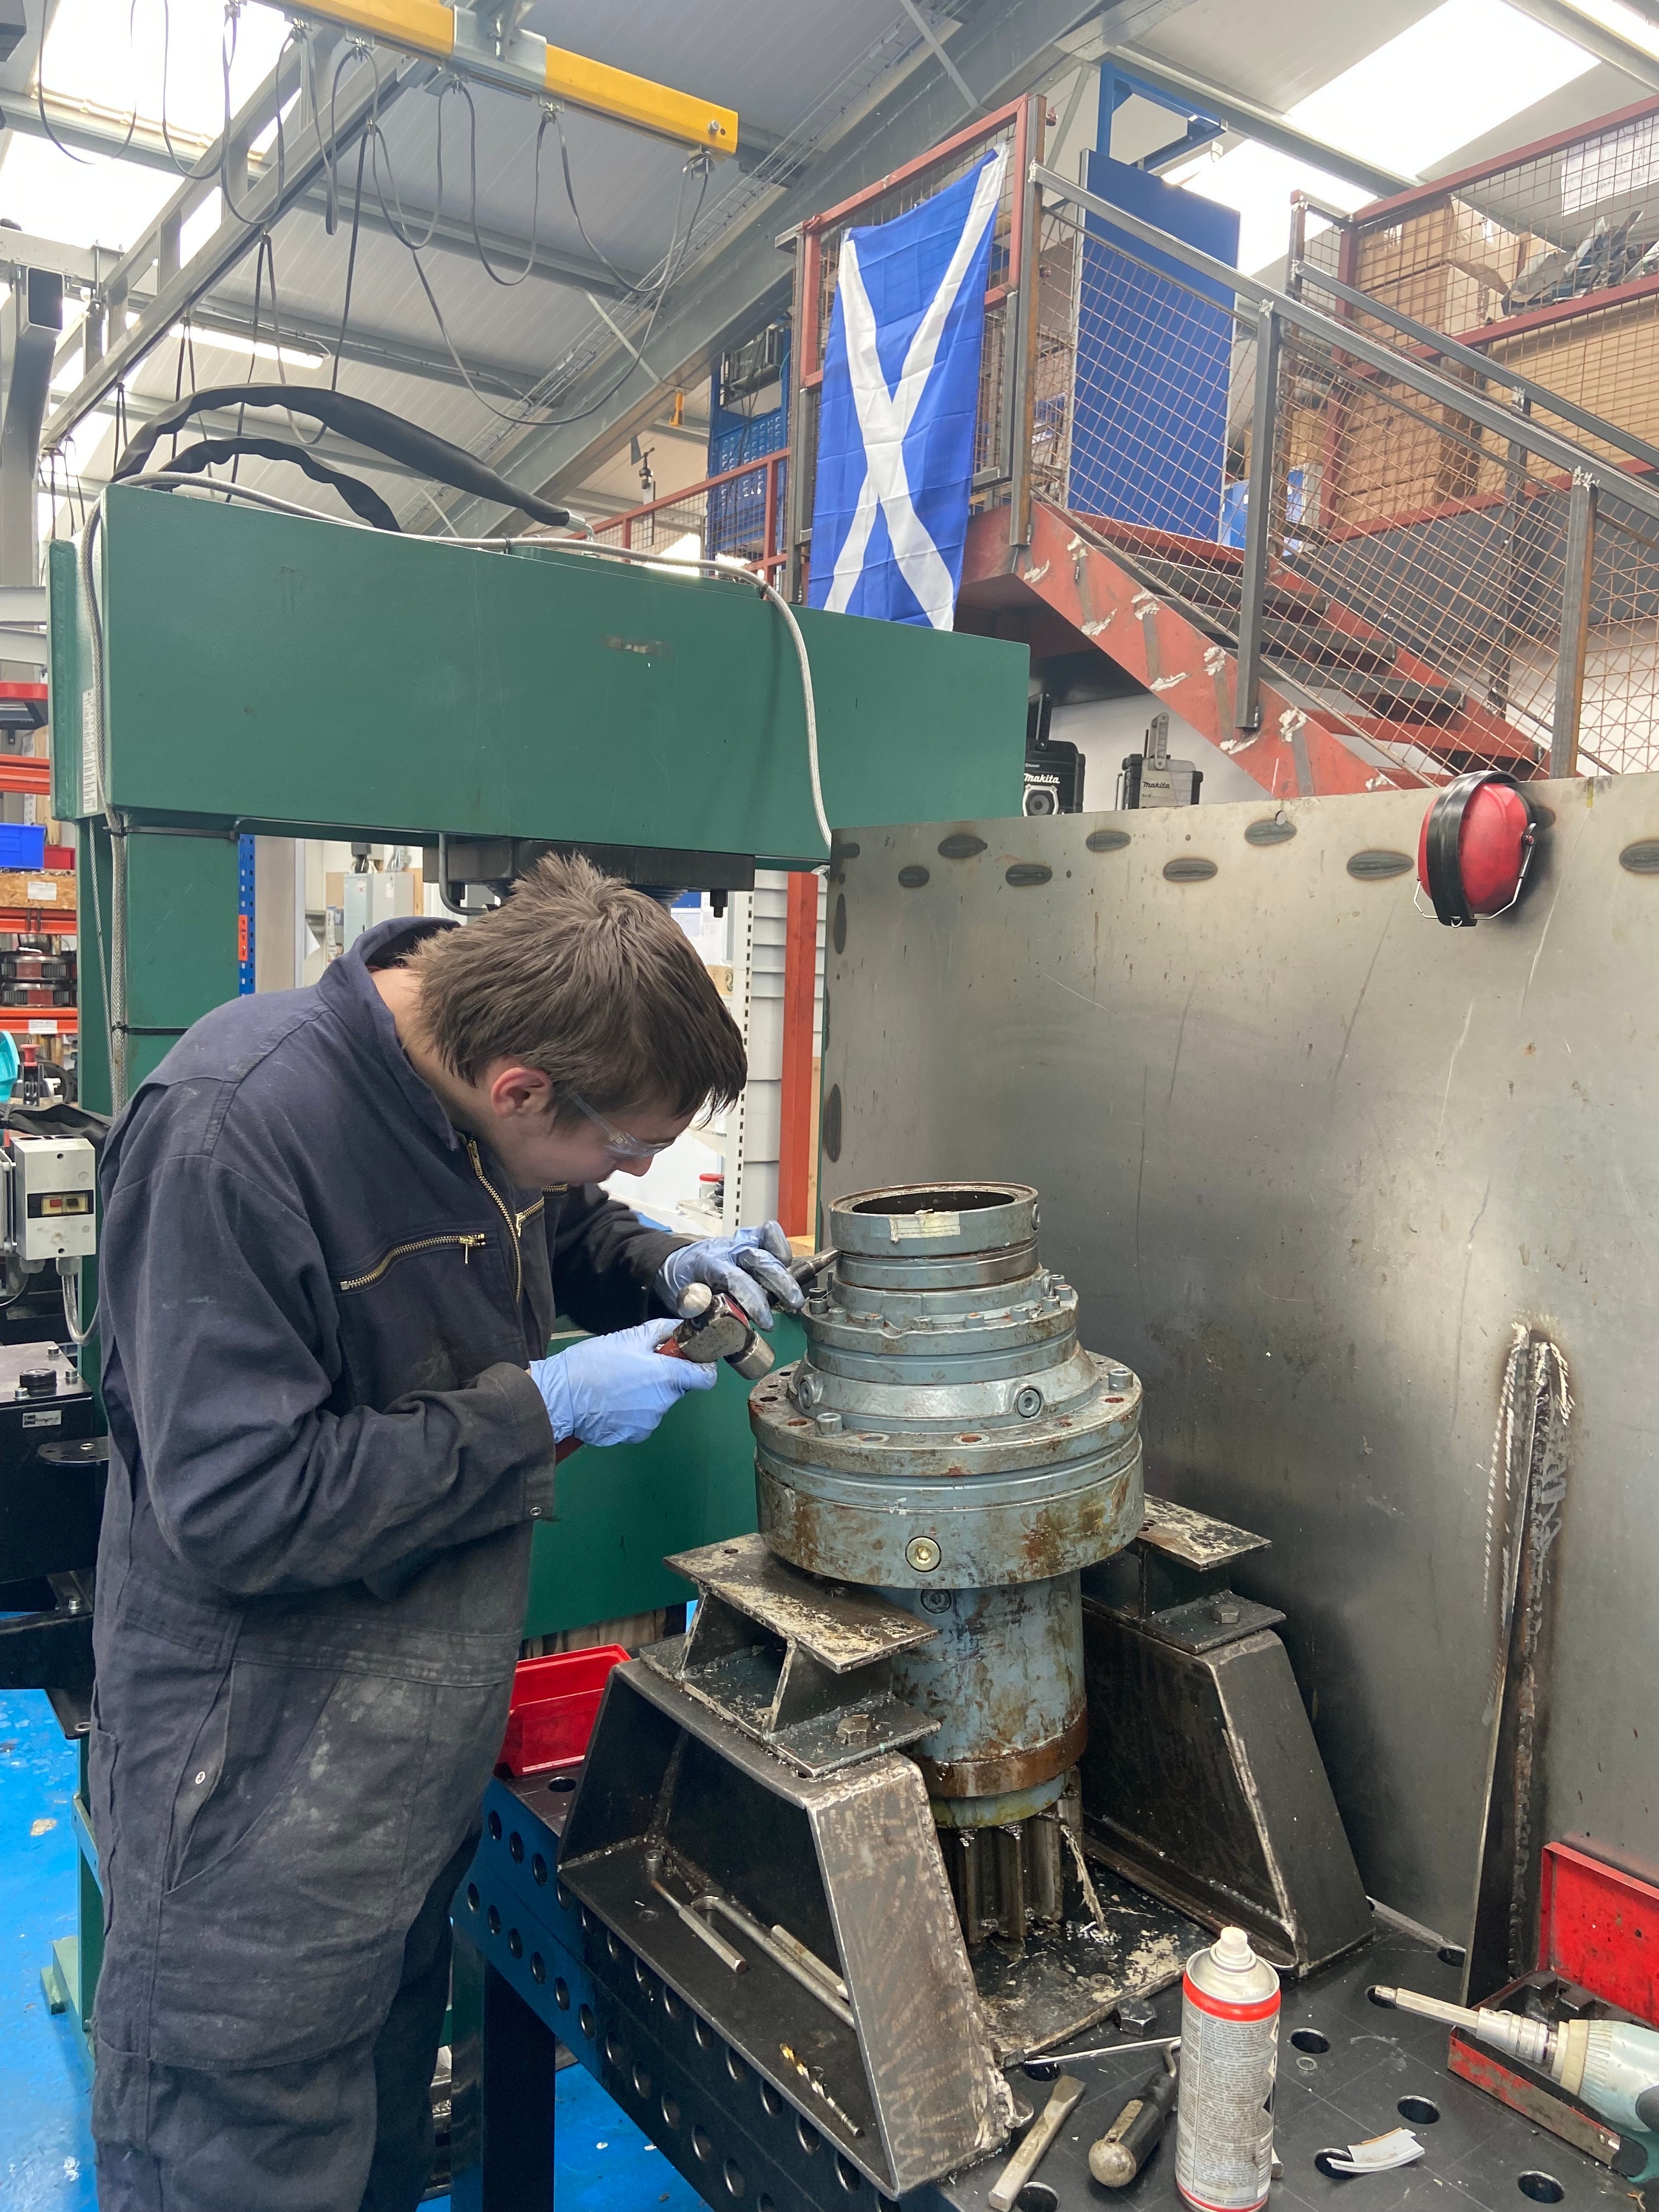
[[[0,2205],[93,2212],[86,2075],[69,2024],[40,1993],[53,1938],[75,1931],[69,1798],[75,1745],[38,1690],[0,1692]],[[584,2066],[557,2086],[560,2212],[697,2212],[701,2199],[606,2097]],[[436,2212],[449,2199],[431,2201]],[[524,2212],[535,2212],[526,2205]]]

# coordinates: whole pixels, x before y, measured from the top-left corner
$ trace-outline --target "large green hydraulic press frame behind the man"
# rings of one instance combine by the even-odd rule
[[[237,995],[246,834],[551,841],[710,889],[827,858],[796,635],[739,571],[115,484],[91,544],[51,546],[49,588],[53,812],[80,825],[80,1068],[100,1110]],[[794,619],[830,821],[1020,812],[1022,646]],[[524,1632],[675,1604],[664,1553],[752,1526],[745,1385],[723,1374],[668,1436],[560,1473]],[[84,2020],[100,1913],[75,1827],[82,1942],[49,1982]]]

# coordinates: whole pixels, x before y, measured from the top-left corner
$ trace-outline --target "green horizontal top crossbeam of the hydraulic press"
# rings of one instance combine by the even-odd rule
[[[741,584],[135,487],[106,491],[100,551],[122,807],[823,858],[794,646]],[[1022,646],[799,622],[832,816],[1018,810]],[[84,617],[75,672],[53,653],[80,701]],[[84,816],[77,703],[60,732]]]

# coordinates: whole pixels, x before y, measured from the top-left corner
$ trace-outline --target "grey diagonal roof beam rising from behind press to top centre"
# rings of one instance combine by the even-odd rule
[[[991,108],[1048,82],[1055,69],[1075,64],[1060,40],[1079,27],[1097,20],[1108,40],[1144,38],[1181,4],[1183,0],[1108,0],[1099,9],[1091,0],[982,0],[962,15],[951,60],[980,106]],[[790,175],[787,186],[765,206],[763,226],[739,230],[664,301],[650,358],[672,363],[670,385],[695,383],[723,347],[748,336],[759,314],[787,299],[790,272],[774,246],[781,232],[849,199],[960,128],[960,91],[920,40],[916,53],[922,55],[918,69],[858,108],[838,139],[821,146]],[[591,409],[584,420],[518,434],[493,451],[493,467],[526,487],[593,476],[664,405],[661,387],[648,385],[644,376],[604,398],[624,358],[622,347],[606,347],[551,403],[560,416]],[[462,535],[480,535],[507,515],[509,509],[471,498],[451,507],[451,522]]]

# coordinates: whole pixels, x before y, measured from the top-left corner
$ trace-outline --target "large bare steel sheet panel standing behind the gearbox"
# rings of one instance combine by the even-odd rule
[[[1281,785],[1272,847],[1261,805],[849,825],[825,953],[823,1197],[1044,1192],[1082,1338],[1144,1378],[1150,1486],[1272,1540],[1230,1573],[1287,1615],[1365,1887],[1453,1931],[1515,1325],[1577,1407],[1540,1834],[1644,1854],[1655,1803],[1659,876],[1621,854],[1659,838],[1659,776],[1528,801],[1555,821],[1526,894],[1478,929],[1416,914],[1409,867],[1349,874],[1416,852],[1425,792]],[[987,849],[945,867],[947,832]],[[1217,876],[1168,883],[1192,852]],[[1009,889],[1015,860],[1051,883]]]

